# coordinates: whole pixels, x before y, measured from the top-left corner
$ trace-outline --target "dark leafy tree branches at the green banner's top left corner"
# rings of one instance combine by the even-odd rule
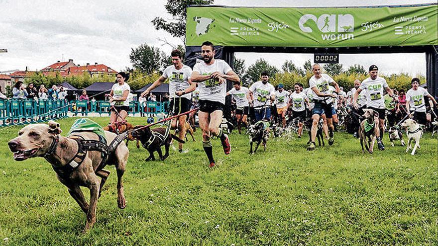
[[[213,2],[214,0],[168,0],[164,7],[172,16],[172,19],[167,20],[162,17],[155,17],[152,20],[152,23],[154,24],[155,29],[165,30],[172,36],[180,37],[185,40],[187,6],[212,4]]]

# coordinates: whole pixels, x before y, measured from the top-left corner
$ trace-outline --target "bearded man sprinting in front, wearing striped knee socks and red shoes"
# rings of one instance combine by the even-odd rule
[[[225,106],[226,80],[239,82],[240,79],[225,61],[215,59],[213,43],[204,42],[201,54],[204,62],[193,67],[192,82],[197,82],[199,86],[199,126],[202,129],[204,151],[210,167],[213,167],[216,163],[213,158],[211,135],[220,139],[225,155],[231,151],[228,136],[219,129]]]

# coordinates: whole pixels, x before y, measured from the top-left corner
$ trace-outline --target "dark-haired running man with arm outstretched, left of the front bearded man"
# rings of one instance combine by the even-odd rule
[[[169,95],[170,104],[169,110],[173,110],[172,115],[178,115],[190,110],[192,91],[195,90],[196,84],[192,83],[192,69],[183,64],[183,53],[180,50],[173,50],[170,54],[173,65],[164,70],[163,75],[158,78],[151,86],[149,86],[141,97],[147,96],[153,89],[160,86],[163,82],[169,79]],[[178,122],[178,134],[180,139],[186,136],[186,119],[187,114],[174,118],[171,123],[171,129],[175,129]],[[178,143],[178,150],[183,152],[183,144]]]

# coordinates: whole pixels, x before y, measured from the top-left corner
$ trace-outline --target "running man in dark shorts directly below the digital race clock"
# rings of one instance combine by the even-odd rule
[[[327,118],[327,127],[323,126],[326,138],[329,139],[329,145],[332,145],[333,140],[333,123],[332,123],[332,110],[331,110],[331,97],[336,97],[330,92],[329,85],[333,85],[335,91],[339,92],[339,85],[327,74],[321,73],[321,66],[319,64],[313,65],[312,69],[314,76],[309,80],[309,86],[315,93],[314,102],[315,106],[312,110],[312,135],[311,142],[307,150],[315,149],[315,138],[317,136],[318,122],[320,117],[325,114]]]

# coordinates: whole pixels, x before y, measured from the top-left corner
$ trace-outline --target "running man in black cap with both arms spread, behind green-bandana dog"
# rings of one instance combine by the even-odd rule
[[[385,89],[388,94],[395,100],[398,100],[397,96],[394,95],[392,89],[388,86],[388,83],[382,77],[377,76],[379,69],[376,65],[371,65],[369,68],[369,78],[362,81],[359,88],[356,90],[353,96],[353,106],[358,109],[357,98],[362,90],[366,90],[366,106],[369,109],[376,111],[379,114],[380,131],[376,134],[377,145],[379,150],[385,150],[383,145],[383,133],[385,132],[385,99],[383,98],[383,89]]]

